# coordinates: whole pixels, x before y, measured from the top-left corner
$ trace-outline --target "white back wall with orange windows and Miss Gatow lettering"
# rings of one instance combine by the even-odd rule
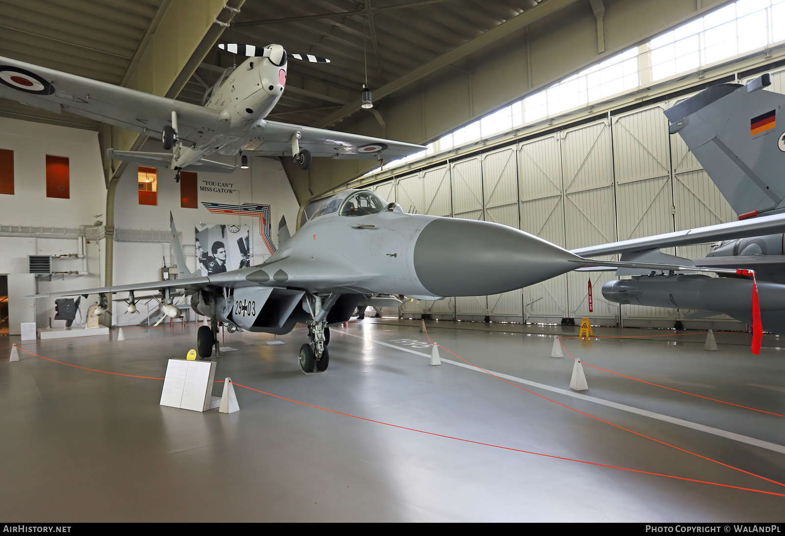
[[[15,192],[0,195],[0,225],[46,226],[75,228],[92,226],[96,219],[105,221],[106,187],[100,162],[97,133],[82,129],[45,125],[29,121],[0,118],[0,148],[14,151]],[[148,142],[143,150],[161,151],[160,144]],[[46,154],[70,158],[71,198],[46,197]],[[216,155],[216,159],[234,163],[232,157]],[[278,222],[285,215],[294,231],[298,204],[280,162],[269,158],[250,158],[249,169],[232,174],[199,172],[199,184],[211,180],[232,183],[231,194],[199,191],[199,208],[181,208],[180,185],[174,172],[159,169],[158,205],[139,205],[137,166],[130,165],[120,179],[115,200],[115,228],[168,230],[169,213],[173,213],[177,230],[182,233],[188,270],[195,270],[195,223],[246,224],[252,237],[252,264],[261,263],[270,255],[259,233],[254,217],[211,214],[202,201],[232,205],[253,202],[270,205],[272,238],[277,244]],[[99,215],[95,217],[95,215]],[[87,246],[87,276],[53,275],[52,281],[39,277],[38,292],[57,292],[94,288],[103,284],[104,241],[90,241]],[[62,255],[77,252],[76,239],[0,237],[0,273],[27,273],[27,255]],[[170,244],[115,241],[114,284],[159,281],[161,268],[174,264]],[[82,270],[81,259],[53,259],[53,270]],[[125,297],[124,295],[122,297]],[[82,310],[96,302],[82,300]],[[54,316],[54,299],[36,300],[38,327],[48,326]],[[151,304],[152,305],[152,304]],[[127,315],[125,306],[115,307],[113,322],[137,324],[146,316]]]

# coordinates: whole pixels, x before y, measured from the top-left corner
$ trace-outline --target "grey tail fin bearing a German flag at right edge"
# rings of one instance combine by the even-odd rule
[[[785,208],[785,95],[761,91],[771,83],[714,85],[665,112],[739,219]]]

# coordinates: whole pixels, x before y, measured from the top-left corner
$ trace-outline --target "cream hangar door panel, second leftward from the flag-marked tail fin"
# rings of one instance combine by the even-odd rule
[[[673,232],[670,135],[663,108],[656,106],[613,118],[612,129],[619,240]],[[674,253],[673,248],[663,251]],[[616,279],[615,273],[607,272],[600,281],[612,279]],[[601,292],[595,292],[595,296],[595,302],[602,299]],[[612,306],[619,310],[618,305]],[[621,313],[625,318],[667,318],[672,311],[622,306]]]

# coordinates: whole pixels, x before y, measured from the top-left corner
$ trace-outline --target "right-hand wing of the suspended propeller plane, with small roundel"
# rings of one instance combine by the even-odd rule
[[[300,149],[311,151],[315,157],[352,158],[387,161],[403,158],[425,150],[424,145],[404,143],[392,139],[361,136],[350,132],[290,125],[278,121],[264,121],[246,139],[243,153],[256,156],[291,156],[291,137],[300,132]]]

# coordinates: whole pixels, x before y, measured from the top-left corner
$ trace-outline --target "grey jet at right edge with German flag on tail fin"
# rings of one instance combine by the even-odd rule
[[[734,211],[754,234],[717,237],[688,231],[573,250],[578,255],[622,254],[622,260],[754,270],[760,290],[761,322],[785,335],[785,234],[770,234],[769,220],[785,212],[785,95],[763,89],[769,74],[747,83],[720,84],[666,110],[670,133],[678,133]],[[758,226],[758,232],[754,232]],[[721,230],[736,223],[713,226]],[[706,228],[711,229],[711,228]],[[676,245],[717,241],[707,257],[685,259],[659,251]],[[686,318],[728,314],[753,324],[751,281],[699,274],[657,275],[622,269],[632,279],[608,281],[602,293],[611,302],[692,310]]]

